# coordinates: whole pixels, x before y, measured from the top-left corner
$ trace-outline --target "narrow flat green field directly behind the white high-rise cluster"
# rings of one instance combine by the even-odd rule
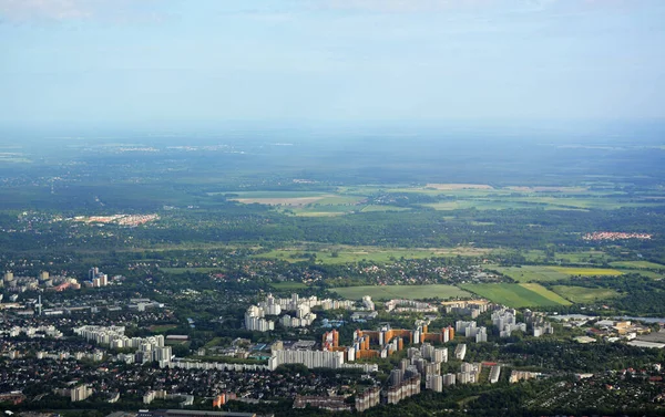
[[[360,300],[369,295],[375,300],[409,299],[423,300],[439,298],[441,300],[456,296],[471,296],[467,291],[453,285],[362,285],[330,289],[347,300]]]

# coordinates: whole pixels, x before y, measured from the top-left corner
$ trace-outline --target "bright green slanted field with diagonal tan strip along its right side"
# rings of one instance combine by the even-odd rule
[[[539,284],[463,284],[460,286],[495,303],[515,309],[571,304]]]

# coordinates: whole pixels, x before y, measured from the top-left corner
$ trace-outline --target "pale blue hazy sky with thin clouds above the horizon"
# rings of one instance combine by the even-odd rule
[[[0,125],[665,118],[663,0],[0,0]]]

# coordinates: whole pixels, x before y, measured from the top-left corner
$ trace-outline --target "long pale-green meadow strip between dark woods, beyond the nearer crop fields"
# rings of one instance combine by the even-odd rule
[[[317,246],[315,248],[290,247],[275,249],[266,253],[259,253],[254,258],[280,259],[288,262],[298,262],[307,259],[306,253],[316,254],[316,259],[327,264],[340,264],[358,261],[388,262],[391,258],[423,259],[434,257],[480,257],[489,253],[489,249],[482,248],[377,248],[377,247],[351,247],[351,246]],[[336,254],[335,254],[336,253]]]

